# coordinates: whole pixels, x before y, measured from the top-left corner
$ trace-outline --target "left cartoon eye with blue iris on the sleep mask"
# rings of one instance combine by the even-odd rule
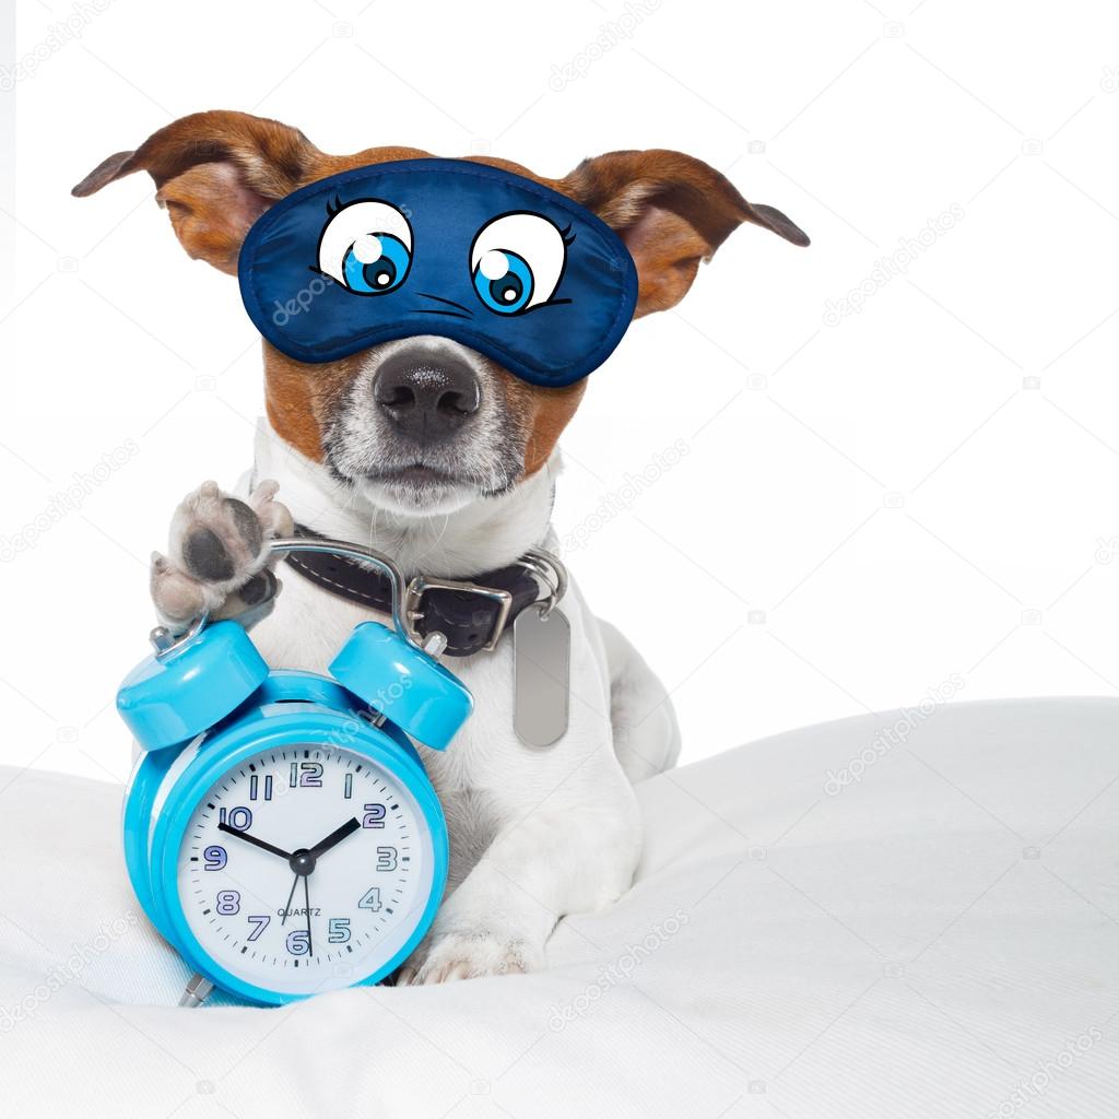
[[[394,291],[411,264],[412,227],[388,203],[342,206],[319,239],[319,271],[358,295]]]

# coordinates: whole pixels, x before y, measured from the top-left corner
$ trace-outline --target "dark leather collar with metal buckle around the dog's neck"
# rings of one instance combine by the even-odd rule
[[[295,526],[295,535],[325,539],[303,525]],[[284,561],[304,579],[340,599],[382,613],[392,609],[388,576],[365,564],[320,552],[289,553]],[[493,648],[517,615],[542,598],[539,581],[523,563],[461,582],[420,577],[413,580],[413,586],[419,598],[412,618],[416,631],[421,637],[442,633],[449,657],[469,657]]]

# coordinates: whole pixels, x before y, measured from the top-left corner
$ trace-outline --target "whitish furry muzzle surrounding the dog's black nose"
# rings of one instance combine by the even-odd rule
[[[402,436],[375,404],[377,372],[404,349],[431,359],[431,370],[421,368],[416,374],[419,385],[426,378],[427,384],[438,386],[441,358],[464,363],[473,372],[479,386],[478,411],[451,438],[417,446]],[[453,513],[479,497],[504,492],[524,469],[527,432],[497,391],[497,376],[492,364],[476,350],[445,338],[424,335],[374,347],[335,405],[323,432],[331,467],[369,501],[399,515]],[[415,466],[439,471],[448,480],[413,486],[375,477]]]

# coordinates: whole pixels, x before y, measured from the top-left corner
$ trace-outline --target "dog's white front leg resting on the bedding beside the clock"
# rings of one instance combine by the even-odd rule
[[[565,805],[554,797],[504,828],[444,901],[397,985],[536,970],[560,918],[601,909],[626,891],[640,822],[629,786],[617,778],[609,800]]]

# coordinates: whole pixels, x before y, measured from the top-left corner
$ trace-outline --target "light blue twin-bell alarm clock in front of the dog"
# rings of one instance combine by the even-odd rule
[[[135,895],[194,970],[279,1005],[375,984],[431,924],[446,882],[443,812],[410,739],[443,750],[466,687],[402,620],[403,580],[378,553],[279,539],[379,566],[396,629],[357,626],[329,676],[270,669],[237,621],[197,620],[128,676],[117,709],[142,754],[124,796]]]

